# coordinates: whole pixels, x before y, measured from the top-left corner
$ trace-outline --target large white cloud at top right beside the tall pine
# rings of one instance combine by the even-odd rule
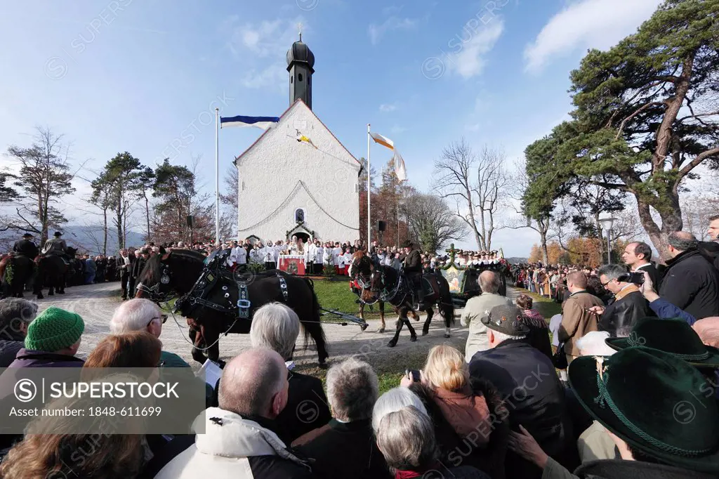
[[[554,58],[578,50],[606,50],[636,31],[663,0],[581,0],[554,15],[524,50],[537,73]]]

